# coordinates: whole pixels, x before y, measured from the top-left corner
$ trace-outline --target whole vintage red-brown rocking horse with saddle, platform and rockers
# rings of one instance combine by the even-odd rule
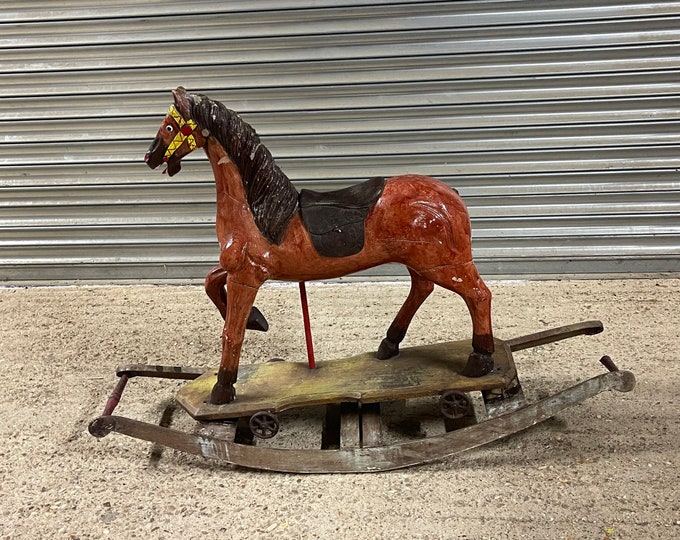
[[[210,160],[221,251],[205,289],[224,318],[222,358],[217,369],[119,368],[104,412],[89,425],[92,435],[117,432],[256,469],[374,472],[457,454],[527,429],[605,390],[628,392],[635,386],[632,373],[619,371],[603,356],[607,373],[527,403],[512,353],[597,334],[602,323],[587,321],[509,340],[494,337],[491,293],[472,261],[470,221],[454,190],[432,178],[404,175],[327,193],[298,192],[235,112],[181,87],[173,93],[174,104],[145,160],[151,168],[165,163],[170,176],[196,148],[204,148]],[[411,289],[377,352],[326,360],[317,369],[298,361],[259,362],[238,373],[246,328],[267,328],[253,306],[266,280],[298,281],[302,292],[307,280],[387,262],[408,268]],[[435,284],[465,300],[472,339],[400,350],[413,316]],[[305,305],[303,296],[303,315]],[[170,428],[169,420],[158,425],[114,416],[132,377],[188,380],[175,402],[196,421],[196,429],[185,432]],[[481,395],[483,405],[477,400],[475,406],[473,393]],[[443,423],[436,429],[445,433],[404,441],[404,432],[399,432],[401,442],[383,445],[383,431],[392,426],[390,408],[396,404],[397,410],[406,411],[409,402],[420,407],[423,400],[430,405],[437,400]],[[278,413],[313,407],[325,411],[320,448],[255,445],[256,438],[276,435]],[[408,413],[398,416],[397,422],[413,420]],[[303,442],[296,440],[295,446]]]

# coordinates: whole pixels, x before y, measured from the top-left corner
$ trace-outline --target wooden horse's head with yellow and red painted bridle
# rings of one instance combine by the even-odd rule
[[[166,163],[167,169],[163,172],[170,176],[180,171],[184,156],[203,147],[208,136],[208,131],[200,129],[191,118],[191,97],[186,90],[180,86],[172,94],[175,103],[170,106],[156,138],[144,156],[144,161],[152,169]]]

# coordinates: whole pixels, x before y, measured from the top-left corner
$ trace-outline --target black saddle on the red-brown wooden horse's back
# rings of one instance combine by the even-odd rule
[[[364,223],[385,182],[377,177],[336,191],[300,191],[302,221],[319,255],[347,257],[363,249]]]

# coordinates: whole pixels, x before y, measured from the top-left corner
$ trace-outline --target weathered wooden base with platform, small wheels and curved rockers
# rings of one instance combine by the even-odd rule
[[[227,405],[207,403],[215,382],[215,369],[132,365],[118,370],[118,384],[106,402],[103,414],[90,422],[88,429],[95,437],[121,433],[254,469],[295,473],[399,469],[442,459],[517,433],[600,392],[631,391],[635,387],[634,375],[619,371],[611,358],[604,356],[600,362],[607,373],[583,380],[533,404],[524,398],[512,352],[574,336],[597,334],[602,329],[601,322],[587,321],[496,341],[496,370],[476,379],[459,374],[471,349],[466,341],[404,349],[398,358],[386,361],[376,360],[372,354],[362,354],[320,362],[316,370],[296,362],[244,366],[236,385],[237,399]],[[132,377],[192,381],[180,390],[177,401],[197,420],[196,429],[187,433],[114,416],[123,390]],[[473,407],[472,411],[468,409],[461,413],[458,399],[462,396],[467,400],[466,393],[475,390],[481,390],[484,411]],[[446,405],[441,408],[445,434],[391,443],[381,438],[381,402],[400,403],[409,398],[437,394],[442,394],[440,407],[442,403]],[[254,445],[253,437],[268,438],[278,430],[278,420],[274,422],[273,413],[315,404],[326,404],[320,448]]]

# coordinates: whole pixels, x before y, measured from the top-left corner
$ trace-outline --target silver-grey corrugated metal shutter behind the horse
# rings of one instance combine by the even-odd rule
[[[457,187],[487,276],[680,270],[680,2],[9,0],[1,280],[205,275],[207,161],[142,162],[180,84],[298,187]]]

